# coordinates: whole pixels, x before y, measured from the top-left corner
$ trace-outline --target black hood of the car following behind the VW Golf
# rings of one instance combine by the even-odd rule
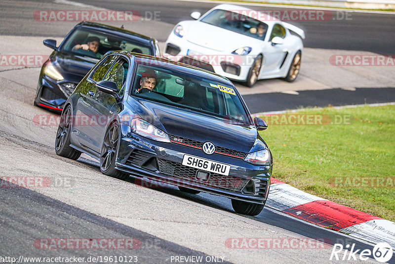
[[[92,69],[98,60],[83,56],[76,56],[65,52],[56,52],[51,62],[60,72],[81,76],[81,79]]]

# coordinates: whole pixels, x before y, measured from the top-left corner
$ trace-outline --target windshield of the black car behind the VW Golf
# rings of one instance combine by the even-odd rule
[[[152,48],[133,40],[124,39],[108,33],[92,31],[86,28],[77,29],[62,46],[63,52],[100,59],[110,50],[127,50],[136,53],[153,55]]]

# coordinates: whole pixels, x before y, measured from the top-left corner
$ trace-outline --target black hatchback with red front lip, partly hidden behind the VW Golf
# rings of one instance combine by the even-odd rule
[[[76,25],[59,46],[55,40],[44,40],[44,45],[54,51],[42,65],[34,104],[59,113],[77,84],[106,52],[123,49],[160,55],[153,38],[93,22]]]

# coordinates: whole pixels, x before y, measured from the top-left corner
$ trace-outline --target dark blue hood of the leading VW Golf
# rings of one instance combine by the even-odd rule
[[[257,139],[257,130],[251,125],[235,125],[189,109],[164,105],[142,98],[135,98],[134,110],[142,119],[170,135],[211,141],[216,146],[250,152]]]

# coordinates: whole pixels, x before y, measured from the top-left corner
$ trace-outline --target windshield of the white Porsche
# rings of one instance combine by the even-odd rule
[[[268,25],[259,20],[222,9],[211,11],[200,21],[260,40],[265,39],[268,29]]]

